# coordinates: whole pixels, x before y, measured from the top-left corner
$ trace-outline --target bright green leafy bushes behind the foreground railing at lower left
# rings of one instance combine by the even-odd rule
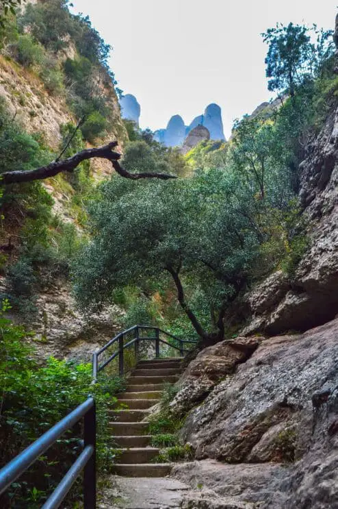
[[[8,309],[8,301],[3,311]],[[64,417],[91,393],[97,404],[99,473],[108,472],[115,451],[107,443],[108,410],[123,384],[117,377],[101,377],[92,386],[90,364],[75,364],[50,358],[39,367],[27,333],[0,316],[0,462],[5,464],[33,440]],[[37,460],[8,492],[16,507],[40,507],[60,482],[81,449],[81,428],[75,426]],[[80,488],[81,490],[81,488]],[[79,492],[73,488],[73,498]],[[6,500],[3,501],[4,503]]]

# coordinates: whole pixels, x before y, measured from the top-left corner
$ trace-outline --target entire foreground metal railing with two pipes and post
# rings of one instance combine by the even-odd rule
[[[41,454],[44,454],[51,445],[55,444],[64,432],[73,427],[80,419],[84,418],[83,451],[79,458],[70,467],[66,475],[55,488],[43,509],[56,509],[60,506],[64,497],[73,486],[79,473],[84,469],[83,475],[83,507],[95,509],[96,507],[96,409],[95,401],[88,397],[84,403],[77,406],[64,419],[59,421],[50,430],[44,433],[34,443],[16,456],[12,461],[0,470],[0,495],[18,477],[20,477],[34,463]]]

